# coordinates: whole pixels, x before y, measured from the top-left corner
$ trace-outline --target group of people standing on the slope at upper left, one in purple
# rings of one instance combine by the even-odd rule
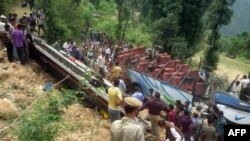
[[[27,6],[26,1],[22,1],[22,7]],[[40,31],[46,34],[44,27],[45,14],[38,7],[35,1],[30,0],[31,13],[24,13],[18,18],[16,13],[9,13],[8,16],[1,15],[0,23],[3,29],[0,30],[0,39],[7,49],[9,62],[20,61],[22,65],[30,63],[29,47],[33,44],[31,33]]]

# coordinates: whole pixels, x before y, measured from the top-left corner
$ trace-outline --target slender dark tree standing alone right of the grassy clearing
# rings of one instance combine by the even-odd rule
[[[213,71],[217,68],[219,62],[218,50],[219,50],[219,38],[220,27],[227,25],[231,21],[233,15],[230,7],[234,3],[234,0],[213,0],[208,9],[208,28],[210,35],[208,39],[209,47],[205,51],[204,69],[207,71]],[[209,67],[207,67],[209,66]]]

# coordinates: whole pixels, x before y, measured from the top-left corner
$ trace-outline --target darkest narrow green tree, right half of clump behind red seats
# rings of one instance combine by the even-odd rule
[[[212,0],[183,0],[182,11],[180,13],[180,36],[184,36],[187,41],[187,56],[193,55],[196,45],[202,37],[204,27],[202,17],[207,11]]]

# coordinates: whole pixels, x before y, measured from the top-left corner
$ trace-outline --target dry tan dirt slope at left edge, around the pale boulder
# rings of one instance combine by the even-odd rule
[[[0,62],[0,99],[11,101],[20,113],[43,93],[41,86],[45,82],[55,82],[55,79],[36,62],[26,66],[20,65],[19,62],[9,63],[2,45],[0,56],[3,57]],[[9,125],[11,121],[12,119],[0,117],[0,129]],[[0,135],[0,140],[13,140],[8,132]]]

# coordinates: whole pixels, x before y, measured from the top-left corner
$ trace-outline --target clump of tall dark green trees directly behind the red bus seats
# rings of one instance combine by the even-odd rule
[[[211,0],[154,0],[152,1],[151,21],[154,44],[162,45],[172,53],[174,45],[186,48],[183,58],[195,53],[203,32],[202,17]],[[181,39],[181,40],[179,40]],[[186,45],[184,47],[183,45]],[[175,56],[176,57],[176,56]]]

